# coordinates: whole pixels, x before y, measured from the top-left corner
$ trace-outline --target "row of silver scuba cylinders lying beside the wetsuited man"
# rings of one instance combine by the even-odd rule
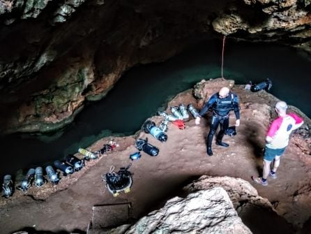
[[[184,120],[189,119],[188,111],[191,113],[193,117],[198,117],[199,112],[192,104],[189,104],[187,108],[185,108],[185,105],[183,103],[179,104],[179,106],[173,106],[170,108],[173,115],[169,115],[166,112],[158,111],[158,115],[161,115],[162,117],[165,117],[168,121],[176,121],[176,120]]]

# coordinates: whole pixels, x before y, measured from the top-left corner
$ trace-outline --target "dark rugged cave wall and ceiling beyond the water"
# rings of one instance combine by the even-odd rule
[[[128,68],[203,38],[310,52],[310,1],[1,0],[1,133],[45,132],[103,98]]]

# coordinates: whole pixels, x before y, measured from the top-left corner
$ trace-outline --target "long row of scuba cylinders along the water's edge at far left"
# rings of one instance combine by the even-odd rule
[[[86,149],[79,148],[79,153],[84,155],[84,160],[89,159],[97,159],[98,156],[94,154],[93,152],[89,152]],[[56,169],[61,170],[63,172],[63,175],[69,175],[74,173],[77,170],[80,170],[84,166],[84,160],[78,159],[76,156],[68,155],[65,158],[65,161],[54,161],[54,167]],[[58,184],[59,183],[59,175],[56,173],[54,168],[52,166],[47,166],[45,168],[46,175],[49,178],[50,182],[52,184]],[[31,184],[34,180],[34,184],[36,187],[41,187],[47,180],[45,180],[45,177],[43,175],[43,168],[37,167],[36,169],[30,168],[26,175],[24,176],[22,182],[19,186],[17,186],[17,189],[26,191],[31,187]],[[2,196],[8,198],[13,195],[13,180],[11,175],[5,175],[3,177],[3,184],[2,184]]]

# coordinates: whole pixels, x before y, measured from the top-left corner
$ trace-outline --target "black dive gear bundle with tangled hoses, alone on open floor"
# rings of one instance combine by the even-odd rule
[[[109,173],[102,175],[103,181],[106,182],[106,187],[114,197],[118,196],[121,191],[125,193],[130,192],[130,187],[132,186],[132,175],[128,171],[132,164],[126,168],[120,168],[120,170],[115,173],[114,167],[110,168]]]

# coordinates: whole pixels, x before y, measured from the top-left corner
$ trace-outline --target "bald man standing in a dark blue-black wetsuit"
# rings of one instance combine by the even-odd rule
[[[210,130],[207,136],[206,144],[207,144],[207,154],[209,156],[212,156],[213,136],[216,130],[218,129],[219,124],[220,124],[220,131],[216,139],[216,145],[220,145],[223,147],[229,146],[227,143],[222,142],[222,138],[225,135],[225,131],[227,131],[229,127],[229,112],[231,110],[234,110],[234,114],[236,115],[236,126],[240,125],[240,110],[238,107],[238,96],[230,92],[229,88],[222,87],[218,93],[213,94],[213,96],[209,98],[208,102],[204,104],[202,110],[199,112],[200,116],[195,118],[195,124],[200,123],[202,116],[210,108],[211,111],[213,112],[213,117],[211,119]]]

